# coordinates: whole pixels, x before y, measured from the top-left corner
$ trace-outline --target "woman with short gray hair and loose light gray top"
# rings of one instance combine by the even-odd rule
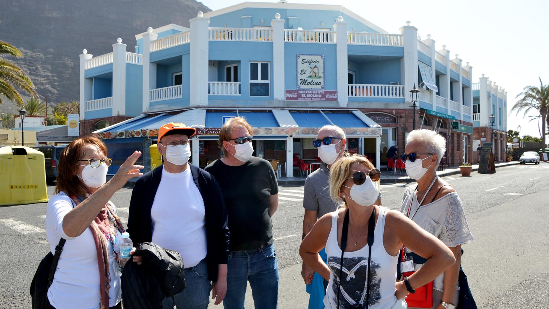
[[[436,168],[446,152],[446,139],[436,131],[422,129],[410,132],[406,142],[401,158],[406,161],[406,173],[416,180],[417,186],[408,187],[400,211],[444,242],[455,256],[456,263],[433,282],[432,303],[433,309],[454,309],[460,296],[461,245],[473,241],[473,235],[456,190],[436,175]],[[406,247],[403,251],[402,256],[413,257],[412,271],[417,271],[427,261]],[[412,297],[408,295],[409,299]],[[413,308],[413,304],[408,304],[408,308]]]

